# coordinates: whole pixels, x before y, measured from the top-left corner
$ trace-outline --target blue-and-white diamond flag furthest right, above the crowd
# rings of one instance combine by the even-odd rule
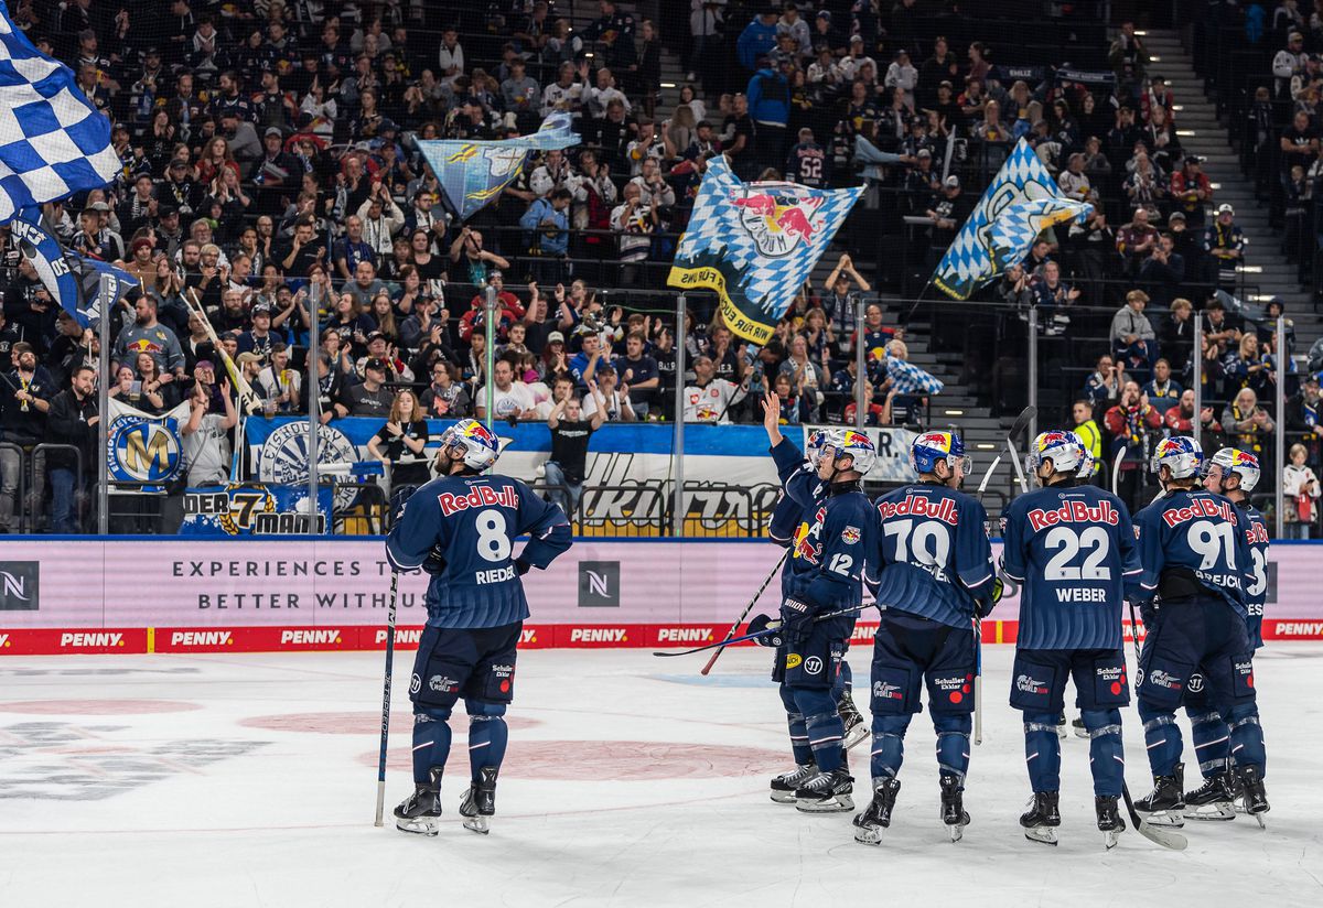
[[[1062,221],[1084,221],[1093,205],[1066,197],[1029,143],[1020,139],[933,272],[947,296],[967,300],[1029,254],[1033,239]]]

